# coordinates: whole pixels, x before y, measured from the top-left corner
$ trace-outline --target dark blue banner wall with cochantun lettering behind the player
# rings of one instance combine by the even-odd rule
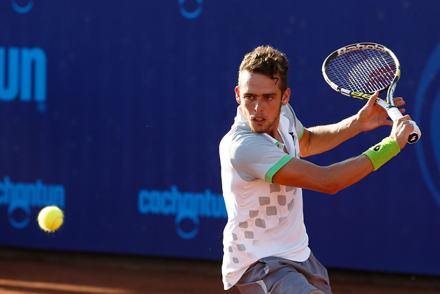
[[[362,107],[322,61],[381,43],[401,62],[395,96],[421,140],[357,184],[304,191],[310,247],[331,269],[440,276],[439,1],[0,2],[0,246],[219,261],[226,213],[218,145],[236,113],[244,54],[291,64],[303,125]],[[357,156],[380,127],[325,154]],[[65,224],[39,229],[55,204]]]

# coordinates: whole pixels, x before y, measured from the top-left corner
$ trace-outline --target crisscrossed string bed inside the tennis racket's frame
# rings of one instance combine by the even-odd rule
[[[393,81],[397,65],[393,57],[375,49],[345,52],[327,64],[330,81],[353,92],[383,91]]]

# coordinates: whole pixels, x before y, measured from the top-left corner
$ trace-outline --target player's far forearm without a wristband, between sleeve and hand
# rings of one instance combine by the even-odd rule
[[[303,157],[320,154],[340,145],[345,140],[359,134],[360,126],[358,116],[355,115],[341,120],[339,123],[320,125],[307,130],[309,131],[308,144],[300,146],[300,155]]]

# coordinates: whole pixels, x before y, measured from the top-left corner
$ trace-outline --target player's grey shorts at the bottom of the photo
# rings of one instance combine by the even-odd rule
[[[262,258],[249,266],[236,286],[243,294],[307,294],[313,290],[331,294],[327,269],[313,253],[305,262]]]

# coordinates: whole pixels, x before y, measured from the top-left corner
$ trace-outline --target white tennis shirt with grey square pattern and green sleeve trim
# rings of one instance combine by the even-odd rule
[[[225,290],[261,258],[277,256],[303,262],[310,255],[302,189],[272,183],[276,171],[292,158],[299,158],[303,125],[289,104],[281,108],[278,132],[289,153],[285,154],[284,145],[272,136],[252,132],[240,107],[219,147],[228,211],[223,231]]]

